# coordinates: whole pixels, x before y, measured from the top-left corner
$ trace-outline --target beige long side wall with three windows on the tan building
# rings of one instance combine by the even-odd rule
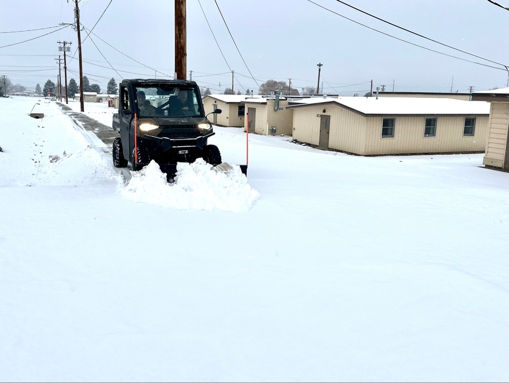
[[[424,136],[426,117],[437,117],[435,137]],[[488,116],[475,118],[473,136],[463,135],[465,116],[395,116],[395,118],[394,138],[382,139],[383,117],[367,117],[366,149],[363,154],[483,152],[486,148]]]

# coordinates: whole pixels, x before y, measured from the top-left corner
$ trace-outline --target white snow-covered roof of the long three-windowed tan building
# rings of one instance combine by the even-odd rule
[[[366,115],[489,115],[486,101],[429,97],[340,97],[293,101],[287,108],[335,103]]]

